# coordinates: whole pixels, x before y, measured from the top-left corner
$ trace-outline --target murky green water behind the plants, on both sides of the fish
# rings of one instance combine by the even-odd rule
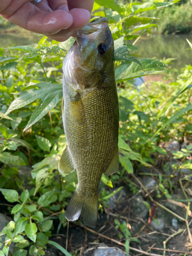
[[[32,45],[39,41],[41,36],[35,33],[3,33],[0,34],[0,47]],[[138,50],[131,51],[138,55],[137,58],[177,58],[174,60],[173,68],[181,69],[185,65],[192,65],[192,51],[186,41],[192,42],[192,35],[150,35],[141,37],[135,46]],[[129,41],[130,43],[130,41]],[[133,43],[133,41],[132,41]]]

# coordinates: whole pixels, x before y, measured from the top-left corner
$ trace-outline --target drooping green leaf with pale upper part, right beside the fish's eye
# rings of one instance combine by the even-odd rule
[[[123,42],[124,37],[120,37],[114,41],[114,48],[115,48],[115,60],[130,60],[133,62],[138,63],[141,67],[141,63],[135,57],[130,54],[128,47]]]

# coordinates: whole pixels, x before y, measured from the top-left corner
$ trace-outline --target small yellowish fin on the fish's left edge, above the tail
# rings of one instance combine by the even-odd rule
[[[65,150],[62,153],[58,164],[58,170],[60,173],[68,175],[75,170],[75,164],[70,155],[69,148],[66,146]]]

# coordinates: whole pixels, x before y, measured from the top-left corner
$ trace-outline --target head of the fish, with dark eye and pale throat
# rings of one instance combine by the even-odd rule
[[[94,87],[106,66],[113,65],[114,41],[108,20],[91,22],[76,33],[76,41],[63,63],[63,72],[77,89]]]

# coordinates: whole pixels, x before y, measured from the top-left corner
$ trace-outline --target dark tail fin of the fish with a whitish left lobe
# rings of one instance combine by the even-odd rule
[[[92,198],[80,197],[77,190],[74,192],[71,201],[66,209],[66,219],[76,221],[79,216],[82,217],[84,224],[95,227],[98,216],[98,195]]]

